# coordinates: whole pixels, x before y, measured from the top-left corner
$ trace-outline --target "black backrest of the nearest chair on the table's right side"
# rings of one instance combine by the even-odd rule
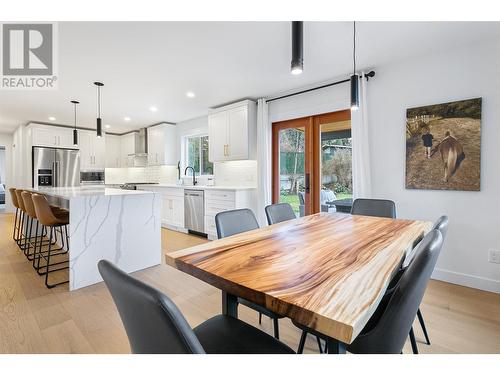
[[[388,301],[381,303],[374,316],[378,321],[368,322],[372,328],[362,332],[348,350],[353,353],[393,353],[403,349],[417,310],[436,265],[443,245],[438,230],[429,232],[418,245],[415,257],[404,270]]]

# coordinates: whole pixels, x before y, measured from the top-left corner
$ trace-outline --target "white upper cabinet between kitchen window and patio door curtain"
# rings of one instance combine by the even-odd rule
[[[246,160],[256,157],[257,105],[251,100],[210,111],[209,160]]]

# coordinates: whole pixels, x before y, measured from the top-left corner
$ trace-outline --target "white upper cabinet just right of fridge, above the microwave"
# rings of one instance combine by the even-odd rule
[[[105,137],[98,138],[93,131],[78,131],[80,169],[104,169],[106,164]]]

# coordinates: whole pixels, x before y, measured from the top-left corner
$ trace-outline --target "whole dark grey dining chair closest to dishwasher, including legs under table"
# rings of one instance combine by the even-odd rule
[[[217,237],[224,238],[247,232],[249,230],[258,229],[259,223],[257,222],[252,210],[249,208],[241,208],[237,210],[219,212],[215,215],[215,226],[217,227]],[[238,298],[238,303],[257,311],[259,313],[259,324],[262,323],[262,315],[271,318],[274,326],[274,337],[279,340],[280,333],[278,319],[283,318],[281,315],[278,315],[275,312],[244,298]]]

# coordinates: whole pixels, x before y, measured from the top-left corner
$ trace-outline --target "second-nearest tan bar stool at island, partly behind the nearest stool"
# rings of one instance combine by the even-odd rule
[[[47,235],[47,230],[45,227],[42,227],[42,233],[41,235],[39,235],[39,221],[38,221],[38,218],[36,216],[36,211],[35,211],[35,205],[33,204],[33,199],[32,199],[32,193],[29,192],[29,191],[23,191],[21,193],[21,196],[23,198],[23,202],[24,202],[24,208],[26,209],[26,214],[28,215],[28,219],[27,219],[27,222],[26,222],[26,237],[25,237],[25,240],[26,241],[26,252],[27,252],[27,258],[28,260],[32,260],[33,261],[33,268],[35,268],[38,272],[39,275],[44,275],[44,273],[40,273],[40,254],[41,253],[47,253],[47,251],[42,251],[42,246],[43,245],[48,245],[49,244],[49,240],[48,239],[44,239],[44,237],[46,237]],[[54,214],[54,216],[56,217],[65,217],[65,215],[67,216],[67,211],[66,211],[66,214],[59,208],[54,208],[54,207],[51,207],[51,210],[52,210],[52,213]],[[33,235],[33,224],[36,224],[35,225],[35,233]],[[40,244],[39,244],[39,251],[37,253],[37,245],[38,245],[38,239],[40,239]],[[34,240],[34,243],[32,242]],[[66,236],[66,242],[67,242],[67,236]],[[54,242],[52,243],[52,245],[55,245],[57,243],[57,232],[55,233],[55,239],[54,239]],[[61,244],[62,246],[58,249],[53,249],[54,251],[59,251],[59,250],[63,250],[62,252],[60,253],[57,253],[57,254],[54,254],[54,255],[60,255],[60,254],[65,254],[67,252],[64,251],[64,235],[63,233],[61,232]],[[67,247],[67,246],[66,246]],[[33,254],[30,254],[30,248],[33,248]],[[37,261],[37,264],[35,266],[35,261]],[[59,262],[59,263],[54,263],[54,264],[62,264],[64,262]]]

